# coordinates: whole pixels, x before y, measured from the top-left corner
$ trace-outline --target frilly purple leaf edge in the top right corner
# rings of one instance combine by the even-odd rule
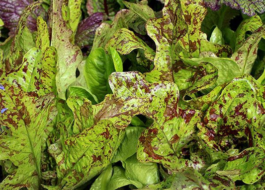
[[[204,0],[206,6],[212,10],[218,10],[222,4],[235,9],[241,9],[244,14],[255,15],[255,11],[263,13],[265,11],[264,0]]]

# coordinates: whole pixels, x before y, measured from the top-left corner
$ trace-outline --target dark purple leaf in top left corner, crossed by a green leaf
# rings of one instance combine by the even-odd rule
[[[15,33],[22,11],[33,2],[33,0],[0,0],[0,18],[3,20],[4,26],[9,29],[9,36]],[[45,10],[41,6],[27,19],[27,27],[31,31],[37,30],[36,19],[38,16],[47,17]]]

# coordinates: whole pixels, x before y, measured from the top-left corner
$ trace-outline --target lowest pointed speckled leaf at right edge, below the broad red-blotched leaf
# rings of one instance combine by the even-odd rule
[[[227,159],[223,171],[217,174],[242,180],[246,184],[254,184],[265,174],[265,150],[260,147],[247,148],[241,153]]]

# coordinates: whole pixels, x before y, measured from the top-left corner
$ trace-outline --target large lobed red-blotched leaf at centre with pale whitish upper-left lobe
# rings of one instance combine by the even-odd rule
[[[147,98],[143,115],[154,120],[140,136],[137,157],[142,162],[158,162],[171,169],[188,166],[180,152],[192,139],[199,112],[177,108],[178,89],[172,82],[148,83],[139,72],[110,75],[114,96],[121,99]]]

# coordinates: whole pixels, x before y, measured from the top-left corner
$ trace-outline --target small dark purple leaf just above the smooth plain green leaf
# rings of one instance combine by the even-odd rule
[[[88,51],[91,49],[95,31],[101,24],[103,15],[102,12],[96,12],[79,23],[75,36],[75,43],[81,49],[87,48]]]

